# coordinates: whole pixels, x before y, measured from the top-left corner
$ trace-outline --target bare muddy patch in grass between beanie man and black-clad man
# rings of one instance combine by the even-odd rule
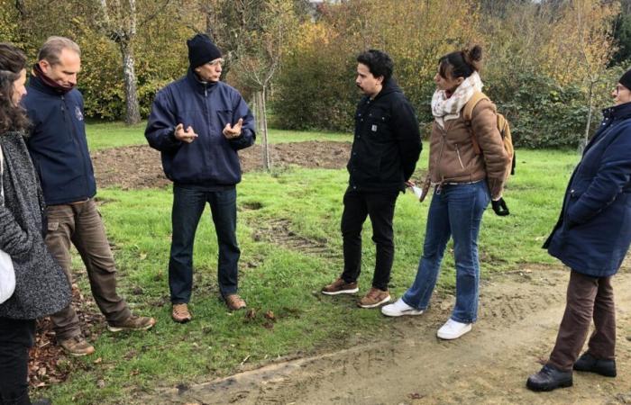
[[[334,252],[327,247],[326,240],[309,239],[298,235],[291,230],[291,221],[286,219],[274,219],[257,224],[253,239],[256,241],[268,240],[289,250],[306,255],[339,258],[340,252]]]

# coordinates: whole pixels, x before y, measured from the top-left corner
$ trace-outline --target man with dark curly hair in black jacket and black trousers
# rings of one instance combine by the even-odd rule
[[[358,302],[375,308],[389,302],[388,284],[394,260],[392,219],[398,193],[414,172],[421,153],[418,121],[412,105],[391,77],[392,59],[370,49],[357,58],[355,84],[365,96],[355,113],[355,137],[347,168],[349,187],[342,214],[343,274],[322,293],[357,293],[361,272],[361,228],[367,216],[377,257],[372,286]]]

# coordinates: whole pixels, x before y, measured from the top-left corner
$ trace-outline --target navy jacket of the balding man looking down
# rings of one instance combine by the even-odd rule
[[[94,197],[96,181],[87,150],[83,97],[77,89],[60,94],[33,76],[23,105],[32,121],[27,146],[47,205]]]

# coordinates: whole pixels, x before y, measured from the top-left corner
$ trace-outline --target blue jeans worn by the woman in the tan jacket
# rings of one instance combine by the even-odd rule
[[[444,249],[453,237],[456,265],[456,304],[452,320],[471,323],[478,317],[480,262],[478,234],[482,214],[489,205],[486,182],[444,184],[434,191],[427,215],[425,245],[414,284],[403,295],[403,302],[426,310],[434,292]]]

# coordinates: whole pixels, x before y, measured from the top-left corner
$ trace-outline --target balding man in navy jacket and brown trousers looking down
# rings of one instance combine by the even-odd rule
[[[27,146],[46,202],[46,246],[70,282],[70,243],[77,247],[107,329],[150,329],[155,320],[134,316],[116,293],[114,256],[94,201],[96,182],[87,150],[83,97],[74,88],[81,68],[78,45],[68,38],[50,37],[38,60],[23,103],[32,122]],[[72,304],[50,320],[59,346],[70,355],[94,352],[81,334]]]

